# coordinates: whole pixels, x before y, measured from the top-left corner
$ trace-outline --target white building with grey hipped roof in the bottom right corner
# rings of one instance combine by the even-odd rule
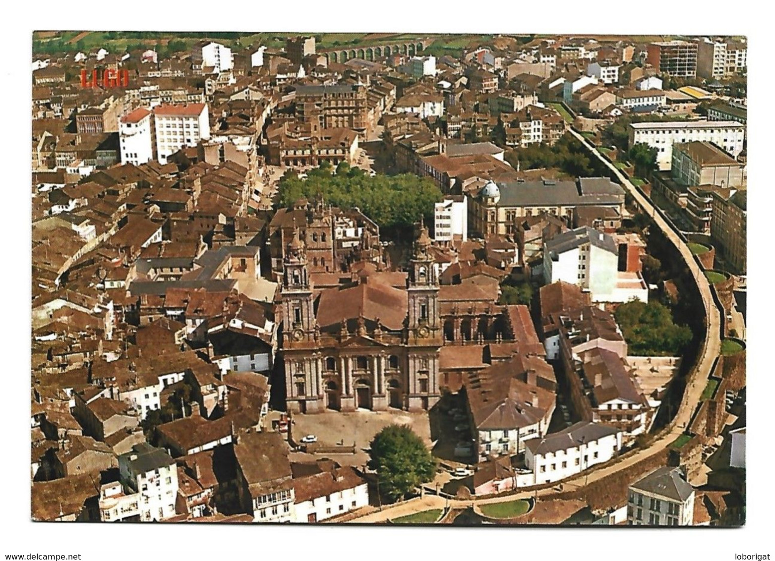
[[[660,467],[629,486],[627,524],[691,526],[694,488],[677,467]]]

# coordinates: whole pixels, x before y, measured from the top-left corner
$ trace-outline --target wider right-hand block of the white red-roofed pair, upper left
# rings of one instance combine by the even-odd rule
[[[158,105],[153,109],[156,153],[160,163],[184,146],[210,138],[207,104]]]

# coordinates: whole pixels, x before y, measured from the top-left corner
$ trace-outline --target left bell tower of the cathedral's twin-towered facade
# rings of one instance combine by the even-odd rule
[[[304,242],[294,228],[283,260],[283,342],[312,341],[315,339],[315,309],[312,301],[312,284],[307,269],[307,253]]]

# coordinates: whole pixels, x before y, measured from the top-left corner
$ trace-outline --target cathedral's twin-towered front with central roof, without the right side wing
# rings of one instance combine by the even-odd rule
[[[405,287],[363,269],[315,296],[294,232],[282,277],[288,411],[427,410],[439,401],[439,280],[422,228]]]

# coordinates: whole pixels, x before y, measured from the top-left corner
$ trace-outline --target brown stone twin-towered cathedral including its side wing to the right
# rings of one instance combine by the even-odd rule
[[[421,225],[406,272],[355,263],[350,277],[331,283],[331,274],[310,272],[294,231],[281,277],[288,411],[428,410],[441,391],[460,388],[460,369],[443,368],[444,346],[527,352],[530,319],[518,311],[527,308],[498,305],[497,282],[487,290],[439,284],[434,248]]]

